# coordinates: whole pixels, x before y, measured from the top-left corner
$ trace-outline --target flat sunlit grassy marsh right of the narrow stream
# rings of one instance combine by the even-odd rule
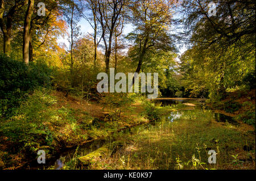
[[[187,111],[173,123],[118,138],[126,145],[89,169],[255,169],[255,135],[216,123],[210,112]],[[209,150],[216,151],[216,164],[208,163]]]

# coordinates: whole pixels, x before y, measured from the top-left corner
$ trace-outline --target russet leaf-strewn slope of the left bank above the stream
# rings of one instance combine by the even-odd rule
[[[33,96],[35,97],[33,98]],[[34,109],[33,117],[42,117],[42,121],[37,124],[47,127],[47,133],[51,135],[51,142],[43,141],[40,136],[38,138],[32,133],[33,142],[21,146],[19,140],[9,141],[8,137],[0,136],[0,168],[2,167],[2,169],[18,169],[32,161],[36,157],[36,151],[33,150],[44,149],[47,157],[51,158],[56,151],[83,145],[98,138],[108,137],[123,129],[150,122],[143,114],[144,108],[141,100],[116,109],[93,101],[84,101],[81,104],[80,100],[73,96],[65,96],[63,92],[59,91],[51,91],[51,93],[47,93],[47,96],[40,94],[40,98],[44,97],[43,100],[38,98],[37,93],[33,96],[32,103],[39,99],[39,101],[36,100],[38,105],[34,104],[34,106],[42,106],[39,110]],[[49,106],[46,103],[46,97],[55,103]],[[45,103],[47,106],[43,107]],[[11,124],[11,121],[7,120],[6,123]],[[29,124],[31,123],[29,122]],[[22,127],[25,126],[22,125]],[[28,140],[29,135],[23,136],[24,140]],[[28,155],[31,152],[32,154]]]

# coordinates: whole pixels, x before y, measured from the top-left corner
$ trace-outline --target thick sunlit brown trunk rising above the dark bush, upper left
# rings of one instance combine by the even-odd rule
[[[22,47],[22,55],[23,62],[28,65],[29,62],[29,52],[30,52],[30,28],[31,28],[31,19],[34,11],[34,0],[28,0],[28,7],[24,20],[24,30],[23,30],[23,47]]]

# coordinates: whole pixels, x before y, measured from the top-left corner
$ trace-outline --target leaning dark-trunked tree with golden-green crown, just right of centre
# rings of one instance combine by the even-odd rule
[[[127,38],[134,40],[138,61],[135,72],[141,71],[142,62],[149,49],[174,50],[168,33],[172,22],[172,5],[174,1],[140,0],[131,6],[131,22],[136,27]]]

